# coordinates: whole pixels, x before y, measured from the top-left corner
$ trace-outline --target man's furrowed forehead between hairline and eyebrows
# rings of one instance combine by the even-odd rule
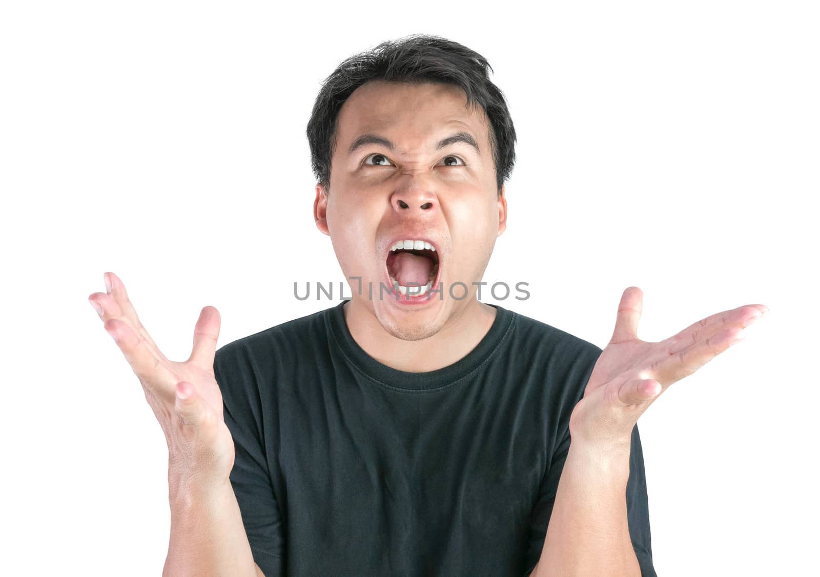
[[[489,122],[481,106],[467,107],[467,96],[453,84],[408,84],[372,80],[354,90],[339,111],[337,150],[344,155],[353,139],[380,134],[409,152],[430,146],[453,129],[471,133],[482,153],[489,150]]]

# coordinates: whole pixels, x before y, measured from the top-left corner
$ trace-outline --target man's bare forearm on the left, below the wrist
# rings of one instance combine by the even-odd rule
[[[205,490],[169,475],[169,501],[171,541],[163,576],[262,575],[230,482]]]

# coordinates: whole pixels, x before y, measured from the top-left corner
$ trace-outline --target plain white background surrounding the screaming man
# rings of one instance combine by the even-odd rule
[[[305,126],[405,34],[487,57],[517,129],[494,301],[605,346],[761,302],[641,417],[659,575],[816,568],[820,158],[813,2],[7,2],[0,12],[4,575],[159,575],[162,430],[86,298],[114,271],[160,348],[330,307]],[[503,538],[503,535],[499,535]]]

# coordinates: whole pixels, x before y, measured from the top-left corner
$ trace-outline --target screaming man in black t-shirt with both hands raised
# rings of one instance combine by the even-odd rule
[[[604,350],[477,298],[515,131],[481,55],[417,35],[342,62],[308,123],[353,294],[185,362],[93,293],[168,439],[166,575],[655,575],[635,425],[767,310]],[[331,170],[332,169],[332,170]]]

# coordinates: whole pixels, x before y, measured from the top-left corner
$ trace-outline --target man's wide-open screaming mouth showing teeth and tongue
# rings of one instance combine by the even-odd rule
[[[397,240],[387,254],[387,275],[405,297],[421,297],[439,274],[439,253],[426,240]]]

